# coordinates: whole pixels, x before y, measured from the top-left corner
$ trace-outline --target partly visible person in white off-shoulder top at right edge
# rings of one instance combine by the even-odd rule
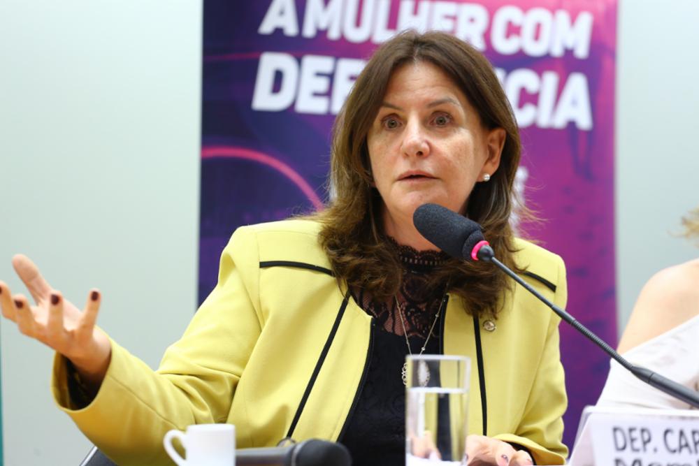
[[[699,207],[683,219],[684,235],[699,238]],[[656,273],[641,290],[619,353],[628,361],[699,390],[699,259]],[[612,361],[598,406],[689,409],[636,379]]]

